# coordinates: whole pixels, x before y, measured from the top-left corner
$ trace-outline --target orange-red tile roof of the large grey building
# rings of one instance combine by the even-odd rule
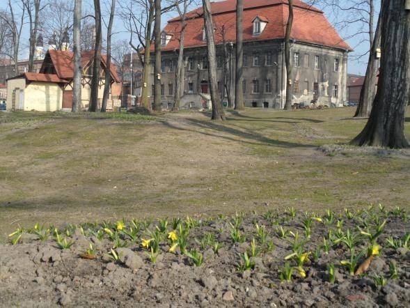
[[[235,42],[236,0],[214,2],[211,3],[211,6],[216,27],[216,44],[223,43],[223,32],[226,42]],[[206,45],[206,42],[203,41],[202,13],[202,8],[197,8],[187,13],[187,28],[184,38],[185,48]],[[260,35],[253,36],[252,22],[257,16],[264,17],[269,20],[269,22]],[[244,0],[244,43],[285,38],[287,16],[287,0]],[[172,38],[165,47],[162,47],[162,50],[171,51],[178,49],[181,32],[180,17],[169,20],[164,32],[170,34]],[[340,38],[329,21],[326,20],[321,10],[313,6],[308,6],[308,4],[300,0],[294,0],[294,22],[291,37],[300,42],[352,50],[352,48]]]

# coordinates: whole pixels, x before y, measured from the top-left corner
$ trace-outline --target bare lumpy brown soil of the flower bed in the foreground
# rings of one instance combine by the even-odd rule
[[[34,230],[22,233],[17,245],[0,246],[0,306],[1,307],[409,307],[410,302],[410,252],[406,247],[391,247],[386,240],[392,237],[399,242],[410,229],[407,213],[403,210],[384,210],[377,206],[368,210],[335,213],[322,216],[322,222],[312,220],[312,234],[306,237],[303,220],[316,217],[313,213],[237,214],[232,217],[220,215],[213,219],[196,217],[182,219],[180,225],[189,229],[188,249],[198,249],[204,262],[195,266],[189,256],[177,248],[169,252],[171,242],[167,233],[173,229],[169,220],[159,245],[156,263],[148,258],[148,250],[141,247],[141,238],[149,238],[148,231],[161,229],[161,221],[141,220],[136,222],[139,232],[136,240],[117,231],[116,222],[65,226],[58,231],[61,238],[73,244],[69,249],[60,249],[54,236],[40,241]],[[374,233],[377,224],[386,219],[386,225],[377,238],[381,246],[364,275],[351,276],[340,261],[349,259],[347,246],[336,240],[338,220],[342,221],[340,234],[347,230],[356,236],[354,254],[365,253],[369,241],[359,232]],[[134,221],[135,222],[135,221]],[[149,226],[148,226],[149,224]],[[267,239],[260,240],[256,224],[265,226]],[[126,221],[123,230],[129,230],[131,221]],[[145,226],[148,226],[145,229]],[[237,226],[246,236],[244,242],[234,242],[230,235],[232,226]],[[292,253],[294,236],[306,240],[302,251],[310,252],[309,261],[303,264],[306,277],[295,271],[292,281],[281,282],[280,272],[285,256]],[[109,231],[104,231],[104,228]],[[178,228],[177,228],[178,229]],[[42,227],[38,230],[45,231]],[[49,228],[53,234],[54,227]],[[333,239],[326,254],[323,238]],[[100,232],[101,239],[97,236]],[[115,247],[110,239],[118,238],[127,247]],[[69,234],[69,236],[67,236]],[[180,233],[178,233],[180,236]],[[200,245],[207,234],[210,241]],[[18,234],[10,237],[12,240]],[[341,236],[342,237],[342,236]],[[241,255],[251,254],[250,242],[255,238],[259,254],[251,257],[255,266],[250,270],[240,269],[244,264]],[[118,240],[117,240],[118,242]],[[214,253],[214,243],[222,247]],[[273,242],[269,249],[268,242]],[[82,259],[90,243],[97,248],[96,259]],[[402,241],[402,245],[404,242]],[[118,245],[117,245],[118,246]],[[122,245],[120,245],[122,246]],[[319,252],[319,248],[322,249]],[[111,248],[119,256],[117,262],[108,254]],[[316,253],[314,253],[316,251]],[[361,263],[363,257],[360,259]],[[290,265],[296,266],[293,259]],[[391,278],[389,264],[397,267],[398,279]],[[336,282],[329,282],[327,265],[336,268]],[[377,286],[374,275],[386,277],[385,286]]]

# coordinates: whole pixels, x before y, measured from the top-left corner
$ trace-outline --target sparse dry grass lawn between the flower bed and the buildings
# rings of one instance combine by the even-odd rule
[[[246,109],[223,123],[188,111],[0,113],[0,240],[36,222],[370,203],[409,210],[409,150],[345,146],[366,122],[354,111]]]

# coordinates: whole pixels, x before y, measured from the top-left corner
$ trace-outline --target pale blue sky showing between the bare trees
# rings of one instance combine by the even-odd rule
[[[69,1],[69,0],[68,0]],[[71,0],[73,1],[73,0]],[[353,0],[344,0],[340,1],[342,4],[347,4],[349,1]],[[14,8],[17,11],[18,6],[17,4],[20,2],[20,0],[12,0],[12,3],[15,4]],[[379,0],[376,0],[377,8],[379,8]],[[85,0],[83,1],[83,12],[88,11],[90,13],[93,12],[93,5],[92,1],[90,0]],[[358,24],[354,23],[347,23],[347,24],[339,24],[338,22],[342,20],[346,20],[347,18],[351,17],[351,13],[343,13],[343,12],[336,12],[336,10],[333,10],[333,8],[330,7],[323,7],[323,6],[317,6],[324,10],[325,16],[333,24],[333,26],[336,27],[339,35],[342,38],[345,38],[346,42],[354,49],[354,52],[351,52],[349,54],[349,62],[348,62],[348,68],[347,71],[352,74],[358,74],[358,75],[365,75],[366,71],[366,66],[368,62],[368,54],[365,54],[365,52],[370,49],[369,43],[368,43],[368,36],[365,34],[361,35],[356,35],[352,36],[352,34],[360,32],[361,29],[358,26]],[[0,0],[0,10],[5,10],[7,8],[7,1],[6,0]],[[117,6],[118,8],[118,6]],[[104,10],[104,6],[102,4],[102,10]],[[171,19],[172,17],[175,17],[175,15],[178,15],[177,13],[167,13],[164,17],[162,17],[162,24],[165,26],[166,21]],[[346,17],[347,16],[347,17]],[[377,12],[378,16],[378,12]],[[376,16],[376,21],[377,22],[377,16]],[[375,25],[374,25],[375,26]],[[25,31],[23,33],[23,38],[22,38],[22,59],[23,58],[28,58],[28,24],[25,26]],[[113,33],[116,33],[113,36],[113,41],[116,40],[121,40],[129,39],[128,33],[125,32],[125,28],[123,26],[123,21],[120,19],[120,17],[116,16],[116,21],[114,22],[114,29]],[[351,37],[352,36],[352,37]],[[365,54],[364,56],[358,58],[358,55]]]

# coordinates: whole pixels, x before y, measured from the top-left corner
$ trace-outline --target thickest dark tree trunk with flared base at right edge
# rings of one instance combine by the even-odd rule
[[[410,10],[403,0],[381,1],[381,65],[368,123],[351,141],[358,146],[409,147],[404,112],[410,102]]]

